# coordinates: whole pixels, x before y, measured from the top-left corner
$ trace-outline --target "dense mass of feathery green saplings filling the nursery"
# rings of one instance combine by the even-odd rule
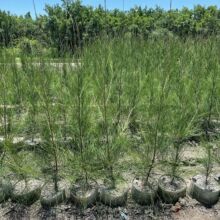
[[[163,184],[176,191],[184,144],[199,139],[209,189],[212,163],[219,161],[211,144],[219,140],[219,51],[214,38],[103,38],[59,69],[31,57],[17,65],[1,51],[2,177],[43,176],[63,197],[63,178],[81,179],[82,195],[93,179],[114,191],[123,172],[136,167],[136,189],[151,191],[152,170],[164,163],[170,178]],[[135,163],[123,167],[129,158]]]

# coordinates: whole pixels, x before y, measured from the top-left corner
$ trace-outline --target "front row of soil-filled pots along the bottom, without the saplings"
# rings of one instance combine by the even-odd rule
[[[212,181],[212,184],[208,184],[207,181]],[[84,185],[82,186],[82,184]],[[51,194],[50,188],[39,180],[20,181],[14,185],[2,180],[0,202],[11,198],[13,202],[32,205],[40,199],[43,208],[50,208],[69,200],[77,206],[87,208],[97,201],[101,201],[105,205],[117,207],[126,204],[129,192],[127,185],[112,190],[98,187],[95,182],[86,185],[85,182],[81,181],[78,181],[78,184],[69,190],[61,186],[60,189]],[[131,187],[131,196],[140,205],[152,205],[157,199],[161,199],[165,203],[175,204],[179,198],[185,197],[186,192],[186,182],[180,177],[170,175],[163,175],[158,181],[153,178],[146,178],[145,181],[135,178]],[[207,180],[205,175],[194,176],[188,192],[207,207],[217,203],[220,194],[218,182],[214,178]]]

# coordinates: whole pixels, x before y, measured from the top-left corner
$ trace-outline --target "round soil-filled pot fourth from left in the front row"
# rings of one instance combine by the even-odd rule
[[[70,188],[70,200],[79,207],[88,208],[98,199],[98,187],[95,182],[77,181]]]

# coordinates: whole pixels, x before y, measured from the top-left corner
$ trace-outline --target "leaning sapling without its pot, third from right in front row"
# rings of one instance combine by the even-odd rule
[[[152,75],[148,77],[152,77]],[[161,76],[156,83],[154,83],[153,77],[151,80],[149,80],[149,84],[151,85],[149,85],[148,118],[146,119],[148,124],[146,131],[148,137],[146,155],[150,157],[150,162],[146,164],[145,184],[148,184],[158,153],[160,153],[167,144],[167,101],[170,92],[170,75]]]

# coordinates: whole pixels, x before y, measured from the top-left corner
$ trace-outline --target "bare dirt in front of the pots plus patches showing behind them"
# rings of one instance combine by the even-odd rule
[[[186,146],[182,161],[182,177],[189,186],[191,178],[195,174],[203,171],[200,160],[203,158],[204,150],[196,145],[189,144]],[[219,174],[220,168],[217,164],[213,167],[213,174]],[[155,175],[161,175],[155,171]],[[134,176],[129,175],[128,181],[132,182]],[[12,203],[8,201],[0,205],[0,220],[34,220],[34,219],[58,219],[58,220],[98,220],[98,219],[120,219],[120,220],[136,220],[136,219],[161,219],[161,220],[220,220],[220,202],[212,208],[206,208],[190,196],[180,199],[175,205],[163,204],[157,202],[152,207],[140,206],[128,198],[125,207],[110,208],[97,202],[91,208],[80,210],[73,204],[67,202],[59,207],[50,210],[43,210],[40,202],[34,203],[30,207]]]

